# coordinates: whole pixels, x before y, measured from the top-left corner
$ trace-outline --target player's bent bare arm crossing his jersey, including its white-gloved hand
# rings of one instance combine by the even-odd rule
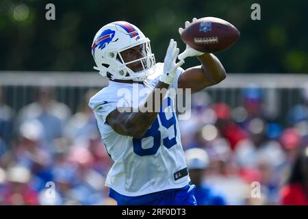
[[[120,108],[107,116],[106,121],[114,131],[124,136],[136,138],[144,136],[144,133],[152,125],[159,112],[167,88],[175,80],[177,68],[183,64],[183,61],[175,63],[177,55],[179,55],[177,42],[170,40],[164,60],[164,73],[159,77],[159,82],[153,89],[153,92],[147,96],[145,103],[140,106],[140,110],[138,112],[131,112],[132,109],[126,109],[125,112],[125,108]],[[149,106],[148,104],[151,105]]]

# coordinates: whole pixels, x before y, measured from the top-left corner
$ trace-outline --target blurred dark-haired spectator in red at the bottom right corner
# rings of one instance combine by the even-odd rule
[[[298,153],[290,178],[281,193],[283,205],[308,205],[308,147]]]

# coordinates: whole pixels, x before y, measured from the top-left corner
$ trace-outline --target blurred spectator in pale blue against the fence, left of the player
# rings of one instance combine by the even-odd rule
[[[26,105],[17,116],[17,127],[29,119],[38,119],[44,127],[44,142],[51,144],[55,138],[62,136],[70,110],[64,103],[55,100],[53,88],[38,88],[36,102]]]

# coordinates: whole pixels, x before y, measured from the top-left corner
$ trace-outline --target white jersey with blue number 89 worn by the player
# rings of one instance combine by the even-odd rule
[[[155,74],[150,75],[146,81],[157,80],[163,68],[164,64],[157,63]],[[177,88],[177,81],[182,71],[182,68],[178,68],[176,79],[170,88]],[[138,85],[135,83],[134,86],[138,86],[139,90],[144,88],[141,83]],[[174,110],[159,112],[143,138],[120,135],[105,123],[107,115],[116,110],[120,102],[136,107],[133,105],[136,94],[127,97],[120,94],[120,89],[122,91],[127,89],[132,93],[133,84],[110,81],[110,85],[92,96],[89,103],[97,118],[107,153],[114,160],[105,185],[125,196],[140,196],[188,185],[190,177],[185,174],[185,156]],[[147,94],[138,96],[138,99],[144,100]],[[168,107],[174,108],[170,97],[166,95],[164,101],[168,102]]]

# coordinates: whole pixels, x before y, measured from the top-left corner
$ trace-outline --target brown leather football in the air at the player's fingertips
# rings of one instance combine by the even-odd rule
[[[231,23],[215,17],[199,18],[181,33],[181,39],[192,49],[215,53],[231,47],[240,38],[240,31]]]

